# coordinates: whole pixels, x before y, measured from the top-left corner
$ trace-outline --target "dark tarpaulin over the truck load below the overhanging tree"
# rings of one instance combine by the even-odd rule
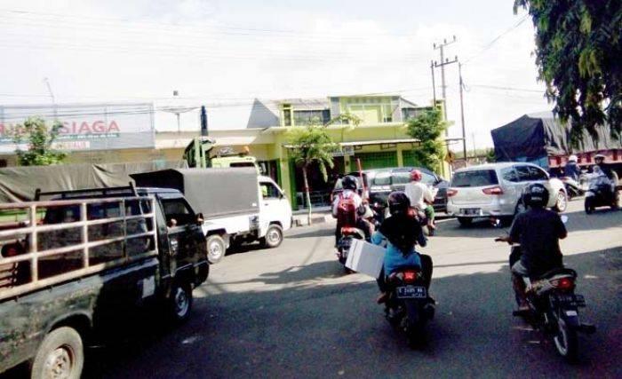
[[[491,130],[497,162],[536,161],[557,156],[622,148],[622,139],[611,138],[608,125],[597,127],[598,141],[587,131],[581,146],[570,146],[570,124],[553,114],[525,114],[500,128]]]

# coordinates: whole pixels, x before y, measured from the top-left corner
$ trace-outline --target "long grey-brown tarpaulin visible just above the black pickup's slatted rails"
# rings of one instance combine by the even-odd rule
[[[52,192],[128,186],[134,173],[186,167],[186,161],[8,167],[0,169],[0,203],[32,201],[37,188]]]

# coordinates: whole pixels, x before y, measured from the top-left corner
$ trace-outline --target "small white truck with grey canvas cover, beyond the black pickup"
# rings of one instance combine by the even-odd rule
[[[230,246],[260,241],[275,248],[291,227],[291,205],[271,178],[252,168],[160,170],[132,175],[137,186],[174,188],[204,216],[208,259]]]

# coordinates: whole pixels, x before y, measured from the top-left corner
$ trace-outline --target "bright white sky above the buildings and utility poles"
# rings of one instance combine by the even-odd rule
[[[430,104],[434,43],[463,63],[468,148],[550,110],[534,29],[512,0],[0,0],[0,104],[206,105],[212,129],[245,127],[252,99],[401,94]],[[458,65],[447,65],[450,137],[461,136]],[[436,97],[441,98],[437,69]],[[172,92],[179,91],[173,98]],[[177,130],[156,114],[158,130]],[[198,129],[195,111],[181,129]],[[459,146],[452,146],[452,149]]]

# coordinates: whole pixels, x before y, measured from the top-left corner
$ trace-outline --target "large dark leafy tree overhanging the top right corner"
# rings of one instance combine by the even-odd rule
[[[538,79],[554,113],[570,120],[578,146],[584,130],[609,122],[611,136],[622,131],[622,2],[619,0],[514,0],[536,27]]]

